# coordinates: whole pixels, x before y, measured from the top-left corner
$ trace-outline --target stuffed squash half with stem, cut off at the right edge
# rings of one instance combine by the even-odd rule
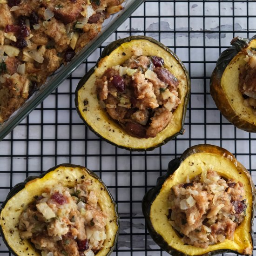
[[[231,44],[211,75],[210,94],[232,124],[256,132],[256,39],[236,37]]]

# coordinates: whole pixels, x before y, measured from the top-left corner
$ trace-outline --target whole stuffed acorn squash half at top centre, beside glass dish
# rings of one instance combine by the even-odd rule
[[[178,57],[145,36],[116,40],[79,82],[75,106],[102,139],[152,150],[184,132],[189,75]]]

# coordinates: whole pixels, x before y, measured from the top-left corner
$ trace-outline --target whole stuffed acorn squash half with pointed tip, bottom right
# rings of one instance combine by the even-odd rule
[[[251,255],[255,195],[249,172],[234,155],[197,145],[169,162],[142,210],[153,240],[173,256]]]

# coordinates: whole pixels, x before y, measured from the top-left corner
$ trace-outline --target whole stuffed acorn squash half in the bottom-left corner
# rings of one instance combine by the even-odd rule
[[[16,256],[109,256],[119,216],[107,187],[87,168],[61,164],[7,195],[0,233]]]

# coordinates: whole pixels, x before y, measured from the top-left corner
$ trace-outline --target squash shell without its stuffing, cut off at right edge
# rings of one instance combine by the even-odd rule
[[[256,132],[256,115],[253,108],[243,104],[244,98],[238,89],[240,67],[245,65],[247,49],[256,48],[255,37],[236,37],[220,55],[210,79],[210,94],[222,115],[247,132]]]

